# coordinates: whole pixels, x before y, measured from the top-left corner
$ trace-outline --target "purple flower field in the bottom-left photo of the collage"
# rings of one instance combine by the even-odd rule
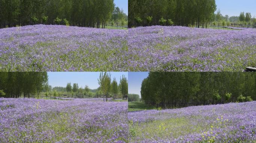
[[[0,98],[1,143],[125,143],[127,102]]]

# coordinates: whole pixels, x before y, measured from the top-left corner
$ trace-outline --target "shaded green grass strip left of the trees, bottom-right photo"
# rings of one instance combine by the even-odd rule
[[[144,104],[144,102],[128,102],[128,111],[142,111],[155,109],[153,106]]]

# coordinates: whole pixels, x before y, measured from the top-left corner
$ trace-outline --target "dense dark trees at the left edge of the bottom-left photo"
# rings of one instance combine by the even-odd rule
[[[46,72],[0,72],[0,97],[39,98],[47,82]]]

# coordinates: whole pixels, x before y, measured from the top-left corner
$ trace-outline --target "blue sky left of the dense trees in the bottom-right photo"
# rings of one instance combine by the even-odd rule
[[[140,95],[142,80],[149,75],[149,72],[129,72],[128,93]]]

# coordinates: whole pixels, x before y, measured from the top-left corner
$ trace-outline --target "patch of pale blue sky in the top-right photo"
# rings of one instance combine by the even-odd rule
[[[256,16],[256,0],[216,0],[216,4],[223,16],[239,16],[240,12],[250,12],[252,18]]]

